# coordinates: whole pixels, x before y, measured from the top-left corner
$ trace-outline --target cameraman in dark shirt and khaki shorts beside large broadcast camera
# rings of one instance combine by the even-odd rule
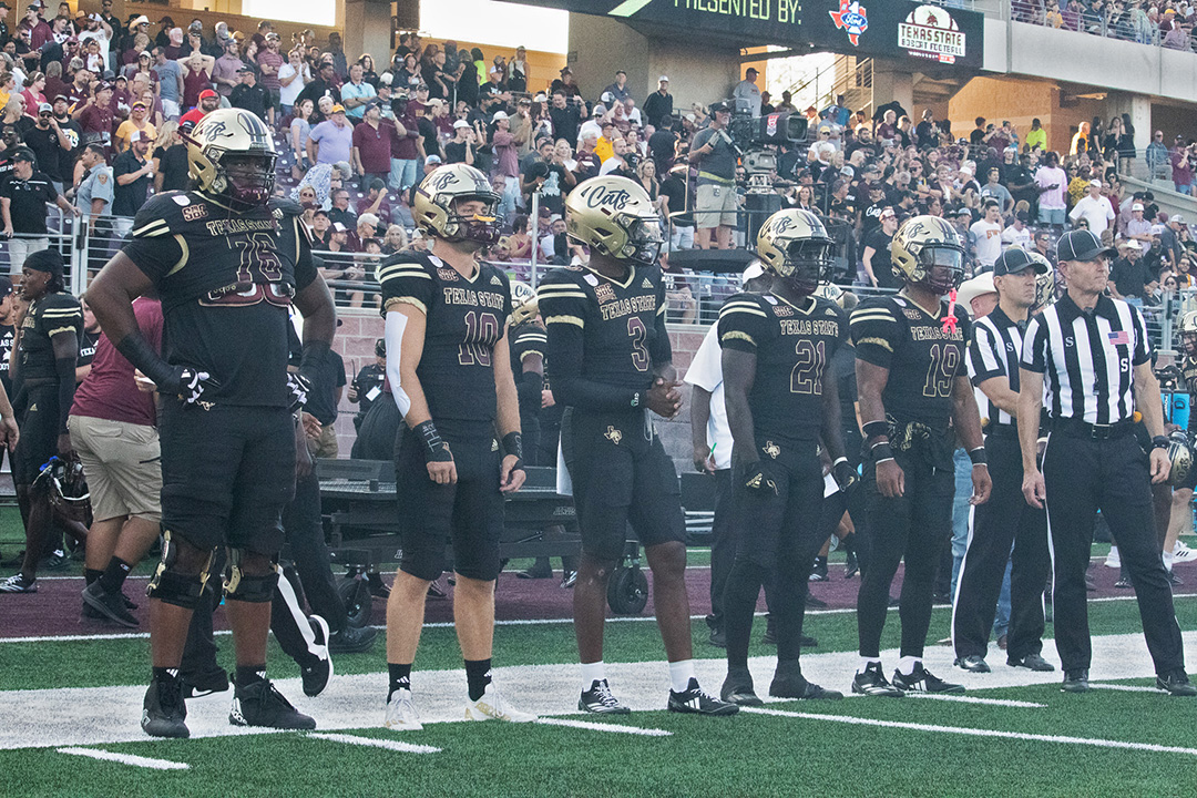
[[[695,239],[699,249],[731,248],[731,230],[736,226],[736,148],[727,127],[731,112],[723,103],[711,106],[711,124],[694,135],[689,163],[698,166],[698,197],[694,202]]]

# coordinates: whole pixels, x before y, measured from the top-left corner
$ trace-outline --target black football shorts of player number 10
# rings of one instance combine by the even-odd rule
[[[403,552],[399,567],[419,579],[444,571],[445,547],[452,544],[454,571],[468,579],[493,581],[499,575],[503,538],[503,493],[499,492],[499,444],[494,427],[448,421],[437,431],[449,444],[457,467],[455,485],[429,479],[424,444],[402,427],[395,462]]]

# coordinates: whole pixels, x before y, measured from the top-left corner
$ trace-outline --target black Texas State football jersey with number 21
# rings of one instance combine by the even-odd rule
[[[847,316],[836,303],[807,297],[802,303],[742,293],[719,310],[719,346],[757,355],[748,394],[758,435],[814,440],[824,416],[824,379],[832,357],[847,339]]]

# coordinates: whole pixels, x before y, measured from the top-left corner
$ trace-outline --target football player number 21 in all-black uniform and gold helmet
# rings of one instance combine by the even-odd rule
[[[723,599],[728,676],[721,698],[742,706],[762,703],[748,672],[748,640],[770,575],[777,670],[768,694],[844,698],[808,682],[798,666],[807,578],[824,542],[820,437],[839,487],[856,479],[844,456],[839,389],[826,373],[847,337],[847,316],[836,303],[812,296],[831,272],[833,246],[809,211],[774,213],[757,237],[757,255],[774,276],[772,288],[736,294],[719,311],[737,528]]]

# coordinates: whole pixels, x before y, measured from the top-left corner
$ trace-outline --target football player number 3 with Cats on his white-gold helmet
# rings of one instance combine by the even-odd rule
[[[566,233],[588,246],[588,266],[552,270],[537,292],[548,331],[553,396],[567,409],[561,450],[573,481],[582,560],[573,626],[587,712],[624,714],[603,669],[607,581],[631,523],[652,568],[657,626],[669,659],[670,712],[733,714],[694,678],[686,595],[686,523],[678,473],[645,410],[681,409],[666,300],[656,264],[661,229],[645,190],[603,176],[565,201]]]

